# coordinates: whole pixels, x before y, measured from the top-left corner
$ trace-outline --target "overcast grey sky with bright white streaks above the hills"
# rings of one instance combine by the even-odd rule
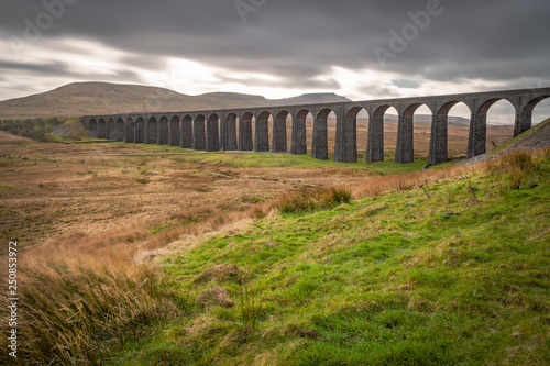
[[[549,15],[548,0],[1,0],[0,100],[91,80],[354,100],[548,87]]]

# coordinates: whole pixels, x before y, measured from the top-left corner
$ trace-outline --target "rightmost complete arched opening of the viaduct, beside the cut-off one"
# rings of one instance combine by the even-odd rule
[[[482,107],[481,112],[486,114],[485,152],[491,152],[514,138],[516,109],[508,100],[490,101],[487,106]]]

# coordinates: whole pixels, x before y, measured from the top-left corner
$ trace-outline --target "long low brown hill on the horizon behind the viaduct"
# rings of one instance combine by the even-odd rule
[[[350,101],[350,99],[336,93],[311,93],[286,99],[266,99],[262,96],[234,92],[187,96],[157,87],[109,82],[75,82],[47,92],[1,101],[0,117],[77,117],[86,114],[176,112],[345,101]]]

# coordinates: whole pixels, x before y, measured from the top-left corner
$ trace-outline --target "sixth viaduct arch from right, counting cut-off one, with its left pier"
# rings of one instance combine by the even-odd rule
[[[369,120],[369,112],[362,106],[352,108],[345,115],[343,162],[356,163],[366,158]]]

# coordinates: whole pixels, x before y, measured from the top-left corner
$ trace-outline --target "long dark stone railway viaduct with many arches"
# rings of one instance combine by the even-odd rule
[[[550,88],[475,92],[437,97],[350,101],[304,106],[224,109],[191,112],[132,113],[87,115],[82,118],[91,136],[127,143],[167,144],[196,151],[255,151],[288,153],[287,118],[292,118],[292,154],[307,154],[306,118],[314,115],[311,156],[327,159],[327,119],[337,115],[334,162],[358,160],[356,118],[369,113],[366,162],[384,159],[384,113],[392,107],[398,112],[396,163],[414,160],[413,129],[415,111],[427,106],[432,113],[428,164],[446,162],[447,120],[453,106],[463,102],[470,108],[468,157],[485,153],[488,109],[499,100],[509,101],[516,110],[514,135],[531,127],[535,107],[550,97]],[[270,142],[268,119],[273,117],[273,141]],[[252,135],[252,120],[255,135]],[[288,119],[290,121],[290,119]],[[237,130],[239,121],[239,134]]]

